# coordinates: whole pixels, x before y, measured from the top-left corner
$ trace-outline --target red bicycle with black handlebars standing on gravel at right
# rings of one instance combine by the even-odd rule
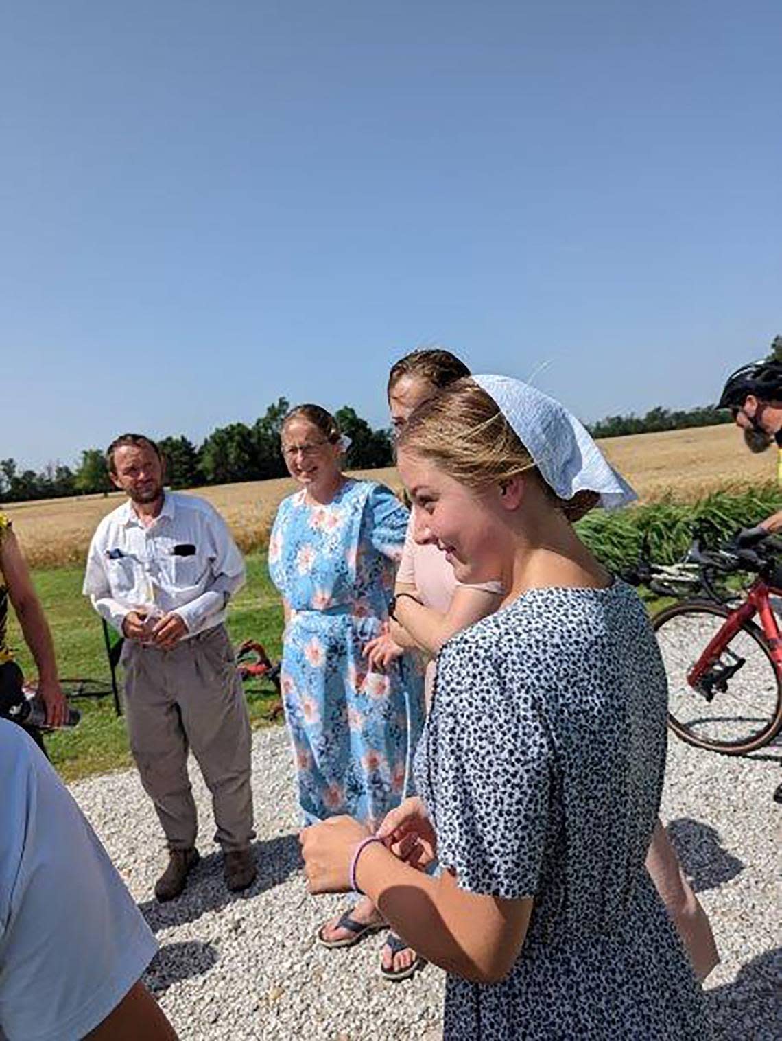
[[[696,543],[688,560],[707,595],[652,619],[667,674],[669,726],[690,744],[739,756],[782,730],[782,638],[770,600],[782,596],[778,552],[765,538],[712,552]],[[715,580],[740,573],[755,575],[752,585],[726,599]]]

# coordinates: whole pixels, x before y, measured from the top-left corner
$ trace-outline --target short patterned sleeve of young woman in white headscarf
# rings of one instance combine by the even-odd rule
[[[462,889],[520,899],[538,888],[554,758],[534,697],[511,675],[468,633],[446,644],[432,765],[440,864]]]

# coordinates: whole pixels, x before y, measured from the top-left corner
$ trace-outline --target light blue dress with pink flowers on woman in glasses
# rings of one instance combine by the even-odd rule
[[[307,823],[379,823],[411,790],[421,667],[405,655],[372,672],[362,656],[388,617],[407,518],[373,481],[346,481],[327,506],[299,491],[277,511],[269,570],[291,607],[281,686]]]

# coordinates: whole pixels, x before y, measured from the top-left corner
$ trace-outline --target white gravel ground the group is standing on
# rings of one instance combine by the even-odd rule
[[[773,959],[779,954],[772,801],[780,748],[753,760],[701,752],[672,738],[663,819],[714,928],[723,958],[708,981],[717,1038],[779,1037]],[[296,840],[288,744],[282,728],[255,733],[258,879],[230,894],[211,842],[208,792],[193,767],[202,863],[185,893],[152,896],[165,864],[157,819],[135,771],[72,791],[160,941],[147,983],[182,1039],[435,1039],[444,975],[431,966],[392,985],[377,973],[382,934],[328,951],[318,925],[344,898],[306,894]],[[650,972],[654,966],[650,964]]]

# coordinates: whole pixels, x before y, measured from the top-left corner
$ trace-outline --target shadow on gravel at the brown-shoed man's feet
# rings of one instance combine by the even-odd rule
[[[253,842],[252,848],[258,874],[244,892],[229,892],[223,879],[223,855],[212,853],[193,869],[181,896],[169,904],[158,904],[155,899],[140,904],[138,910],[152,932],[197,921],[209,911],[221,911],[231,904],[252,899],[258,893],[279,886],[302,866],[296,835],[279,835],[263,842]]]

